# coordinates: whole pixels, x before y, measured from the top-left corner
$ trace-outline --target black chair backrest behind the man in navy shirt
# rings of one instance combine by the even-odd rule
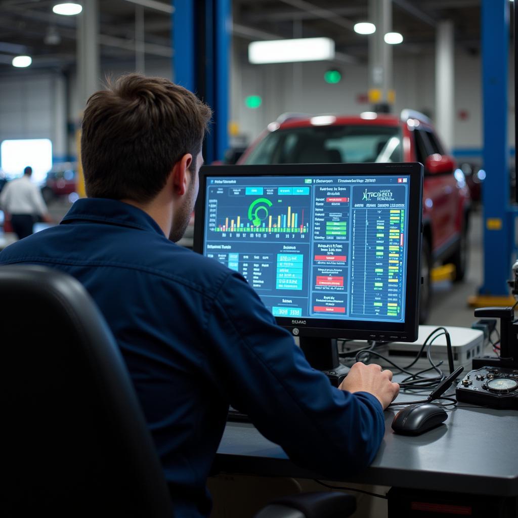
[[[84,287],[0,267],[0,515],[172,516],[124,360]]]

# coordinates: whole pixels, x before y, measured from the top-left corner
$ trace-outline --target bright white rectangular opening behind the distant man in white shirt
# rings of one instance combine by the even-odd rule
[[[21,176],[30,165],[31,179],[39,183],[52,169],[52,142],[48,138],[4,140],[0,145],[0,161],[8,178]]]

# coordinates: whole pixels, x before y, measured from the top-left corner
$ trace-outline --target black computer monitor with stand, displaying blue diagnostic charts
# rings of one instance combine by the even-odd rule
[[[242,274],[313,367],[418,336],[423,166],[204,166],[194,250]]]

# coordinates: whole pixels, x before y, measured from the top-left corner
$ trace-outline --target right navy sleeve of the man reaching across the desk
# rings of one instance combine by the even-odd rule
[[[223,283],[207,328],[217,381],[231,405],[292,461],[328,477],[372,462],[385,431],[378,399],[338,390],[310,367],[239,274]]]

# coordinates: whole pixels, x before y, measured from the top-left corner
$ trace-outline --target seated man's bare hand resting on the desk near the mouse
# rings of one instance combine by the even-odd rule
[[[338,388],[349,392],[368,392],[378,398],[385,410],[399,394],[399,384],[391,380],[392,371],[382,371],[379,365],[358,362],[351,367]]]

